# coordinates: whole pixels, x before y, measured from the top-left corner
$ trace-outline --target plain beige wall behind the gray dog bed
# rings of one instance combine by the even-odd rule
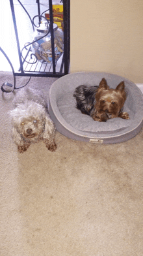
[[[71,0],[71,72],[143,83],[143,0]]]

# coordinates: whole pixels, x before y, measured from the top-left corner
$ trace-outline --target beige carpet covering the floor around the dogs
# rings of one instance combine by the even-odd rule
[[[17,77],[17,86],[27,78]],[[31,78],[48,95],[56,78]],[[0,85],[12,74],[0,72]],[[95,145],[57,132],[57,151],[41,142],[17,151],[0,94],[1,256],[142,256],[143,131],[121,144]]]

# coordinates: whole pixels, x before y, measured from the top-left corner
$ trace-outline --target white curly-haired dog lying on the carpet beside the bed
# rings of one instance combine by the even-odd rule
[[[40,91],[22,88],[14,98],[12,117],[12,137],[18,145],[19,153],[23,153],[32,143],[43,140],[51,152],[57,148],[55,144],[55,125],[47,114],[47,104]]]

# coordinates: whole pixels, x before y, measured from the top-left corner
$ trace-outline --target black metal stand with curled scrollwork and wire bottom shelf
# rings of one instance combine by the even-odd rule
[[[25,49],[27,50],[27,54],[23,58],[23,56],[21,54],[21,49],[20,49],[20,46],[19,46],[18,29],[17,29],[17,24],[16,24],[16,15],[15,15],[15,11],[14,11],[14,3],[13,3],[13,0],[9,0],[9,1],[10,1],[10,8],[11,8],[11,12],[12,12],[12,19],[13,19],[14,31],[15,31],[15,35],[16,35],[17,48],[18,48],[19,67],[20,67],[18,72],[14,71],[14,68],[12,67],[12,63],[8,59],[8,56],[6,56],[5,52],[1,48],[0,48],[0,50],[5,55],[6,59],[8,60],[8,62],[10,63],[10,66],[12,68],[12,72],[13,72],[13,75],[14,75],[14,89],[19,89],[19,88],[16,88],[15,76],[47,76],[47,77],[57,77],[57,78],[59,78],[61,76],[64,76],[64,75],[68,74],[69,68],[70,68],[70,0],[62,0],[63,10],[64,10],[64,13],[63,13],[63,16],[64,16],[64,53],[62,54],[62,61],[61,61],[59,72],[56,72],[54,36],[53,36],[52,0],[47,0],[47,1],[49,1],[51,48],[52,48],[52,63],[49,67],[49,71],[45,71],[46,68],[47,68],[47,64],[45,64],[45,63],[44,64],[40,63],[40,65],[41,65],[40,69],[39,69],[39,71],[36,71],[36,66],[39,63],[38,60],[36,61],[34,71],[31,71],[31,68],[30,68],[29,71],[24,69],[23,65],[24,65],[27,57],[29,56],[29,52],[31,51],[31,48],[29,47],[29,49],[27,50],[27,48],[25,46]],[[20,3],[19,0],[18,0],[18,2]],[[41,20],[40,0],[36,0],[36,3],[37,3],[37,7],[38,7],[38,18],[39,18],[39,23],[40,23],[40,20]],[[30,16],[29,16],[29,18],[31,19]],[[32,20],[31,20],[31,22],[32,22]],[[34,26],[33,26],[33,29],[34,29]],[[42,70],[42,65],[45,65],[44,71],[41,71]],[[53,72],[50,71],[51,66],[53,67]],[[31,67],[32,67],[32,64],[31,64]],[[64,71],[63,71],[63,69],[64,69]],[[8,83],[5,83],[5,84],[3,84],[3,86],[12,86],[12,85],[10,85],[10,84],[8,85]],[[6,91],[3,88],[3,86],[1,87],[2,91],[3,92],[9,92],[9,91]]]

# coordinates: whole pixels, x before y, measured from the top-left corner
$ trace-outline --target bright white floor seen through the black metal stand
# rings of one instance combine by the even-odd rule
[[[36,0],[21,0],[21,3],[29,12],[31,18],[38,14]],[[47,0],[40,0],[41,13],[48,9],[48,3],[49,1]],[[53,1],[53,3],[60,3],[60,0],[56,0],[56,2]],[[21,5],[18,3],[18,0],[14,0],[14,10],[16,14],[16,22],[18,27],[19,44],[20,47],[23,48],[25,42],[31,42],[32,40],[32,25],[29,20],[29,17],[25,13]],[[5,51],[6,55],[12,62],[14,71],[18,71],[19,57],[9,0],[0,1],[0,14],[0,46]],[[12,71],[8,61],[3,56],[1,51],[0,71]]]

